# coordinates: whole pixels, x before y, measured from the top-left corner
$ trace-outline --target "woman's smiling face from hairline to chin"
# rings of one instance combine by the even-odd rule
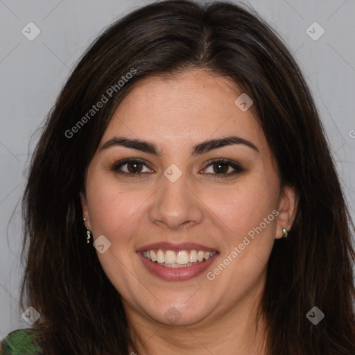
[[[128,318],[208,324],[260,295],[294,195],[240,94],[194,69],[141,80],[112,116],[82,204]]]

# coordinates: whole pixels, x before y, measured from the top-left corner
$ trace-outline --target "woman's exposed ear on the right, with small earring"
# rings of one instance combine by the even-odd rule
[[[295,220],[298,206],[298,198],[295,189],[290,186],[284,186],[279,198],[279,215],[277,216],[276,239],[284,236],[282,228],[287,231],[291,230],[293,221]]]

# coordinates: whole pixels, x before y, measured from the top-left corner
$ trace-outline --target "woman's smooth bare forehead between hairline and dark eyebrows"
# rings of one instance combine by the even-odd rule
[[[102,141],[120,135],[168,147],[238,135],[263,150],[266,139],[257,119],[234,103],[241,94],[229,78],[202,69],[149,76],[123,98]]]

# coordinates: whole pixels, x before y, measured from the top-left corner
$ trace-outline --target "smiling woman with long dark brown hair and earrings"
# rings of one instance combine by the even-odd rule
[[[40,318],[3,354],[355,354],[354,224],[318,112],[241,6],[162,1],[107,28],[23,207]]]

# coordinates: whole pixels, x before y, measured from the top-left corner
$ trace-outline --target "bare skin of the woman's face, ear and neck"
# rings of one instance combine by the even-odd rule
[[[282,227],[291,229],[297,198],[291,187],[281,191],[257,119],[234,103],[240,94],[228,78],[202,69],[145,78],[116,109],[89,164],[83,217],[94,240],[104,235],[112,243],[97,254],[122,295],[139,354],[265,354],[266,327],[261,318],[256,328],[257,306],[272,245],[282,238]],[[252,141],[259,153],[234,144],[191,157],[196,144],[230,135]],[[153,142],[162,155],[123,146],[101,150],[115,136]],[[144,159],[149,166],[139,165],[137,178],[112,171],[125,158]],[[238,162],[245,172],[227,175],[234,171],[227,165],[224,177],[216,178],[218,166],[205,163],[220,158]],[[164,176],[171,164],[182,171],[176,182]],[[128,168],[135,171],[132,164],[121,166]],[[207,279],[274,209],[277,218],[219,275]],[[198,277],[166,281],[148,272],[136,253],[160,241],[193,241],[219,255]],[[174,324],[164,316],[172,306],[180,313]]]

